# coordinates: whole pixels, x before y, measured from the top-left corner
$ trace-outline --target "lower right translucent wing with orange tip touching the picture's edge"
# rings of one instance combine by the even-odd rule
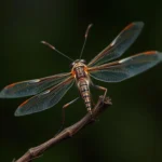
[[[120,82],[148,70],[162,60],[162,53],[144,52],[132,57],[89,68],[90,75],[104,82]]]

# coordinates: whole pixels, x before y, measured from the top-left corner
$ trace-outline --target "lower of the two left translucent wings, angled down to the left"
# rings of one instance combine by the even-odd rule
[[[72,86],[72,84],[73,77],[70,77],[54,87],[29,98],[17,108],[15,116],[30,114],[53,107],[62,99],[66,92]]]

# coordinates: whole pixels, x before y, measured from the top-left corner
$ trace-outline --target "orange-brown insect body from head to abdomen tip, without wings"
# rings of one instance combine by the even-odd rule
[[[82,62],[77,60],[72,66],[72,73],[76,78],[76,83],[78,85],[80,94],[85,103],[87,111],[91,111],[92,105],[90,96],[90,78],[87,76],[87,72],[85,71],[86,65]]]

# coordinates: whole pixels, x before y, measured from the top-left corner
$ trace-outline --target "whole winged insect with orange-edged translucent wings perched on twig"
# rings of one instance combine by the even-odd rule
[[[77,60],[73,60],[64,53],[59,52],[50,43],[42,41],[43,44],[72,60],[71,71],[41,79],[17,82],[5,86],[0,92],[1,98],[14,98],[33,95],[16,109],[15,116],[30,114],[55,106],[75,82],[78,86],[81,97],[84,100],[87,111],[92,113],[90,85],[103,90],[104,97],[107,94],[107,89],[95,85],[91,78],[104,82],[121,82],[146,71],[162,60],[161,52],[147,51],[121,60],[108,63],[109,60],[120,57],[140,33],[144,23],[134,22],[127,25],[106,49],[104,49],[86,65],[85,60],[82,59],[81,56],[91,26],[92,25],[89,25],[86,29],[80,58]],[[66,104],[63,108],[68,107],[77,99],[78,98]]]

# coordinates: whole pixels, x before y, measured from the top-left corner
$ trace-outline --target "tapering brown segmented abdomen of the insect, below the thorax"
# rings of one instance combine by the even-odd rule
[[[90,97],[90,89],[89,89],[87,80],[85,78],[80,79],[78,81],[78,85],[87,110],[91,110],[91,97]]]

